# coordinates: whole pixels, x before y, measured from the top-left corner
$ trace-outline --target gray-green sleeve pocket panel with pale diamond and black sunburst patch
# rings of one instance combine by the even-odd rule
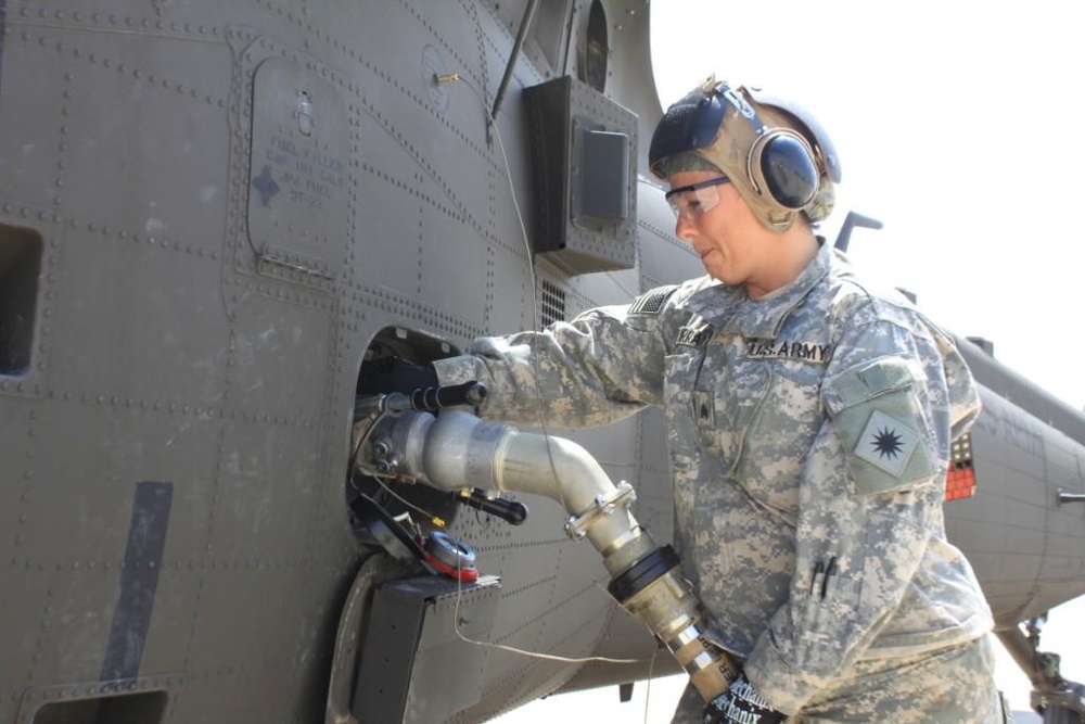
[[[845,370],[826,381],[822,396],[857,493],[905,491],[937,473],[934,435],[906,361]]]

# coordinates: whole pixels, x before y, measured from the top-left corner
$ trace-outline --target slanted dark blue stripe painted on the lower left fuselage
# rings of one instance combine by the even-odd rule
[[[120,595],[113,611],[113,626],[102,663],[103,682],[139,676],[173,499],[173,483],[140,482],[136,485],[125,567],[120,573]]]

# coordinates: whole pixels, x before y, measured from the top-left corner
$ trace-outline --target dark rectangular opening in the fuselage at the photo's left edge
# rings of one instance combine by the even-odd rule
[[[41,249],[34,229],[0,224],[0,374],[30,367]]]

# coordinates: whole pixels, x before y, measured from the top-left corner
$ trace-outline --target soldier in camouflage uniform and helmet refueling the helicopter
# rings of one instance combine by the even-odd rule
[[[990,609],[946,541],[950,442],[979,415],[953,341],[815,236],[839,165],[801,109],[709,82],[652,169],[709,276],[435,363],[486,417],[666,411],[676,546],[742,662],[676,721],[1001,721]]]

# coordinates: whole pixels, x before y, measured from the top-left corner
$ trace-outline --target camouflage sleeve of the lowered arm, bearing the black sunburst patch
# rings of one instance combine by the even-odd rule
[[[864,656],[939,535],[960,412],[944,363],[935,339],[886,321],[837,346],[800,483],[790,598],[745,664],[780,711],[799,711]]]

